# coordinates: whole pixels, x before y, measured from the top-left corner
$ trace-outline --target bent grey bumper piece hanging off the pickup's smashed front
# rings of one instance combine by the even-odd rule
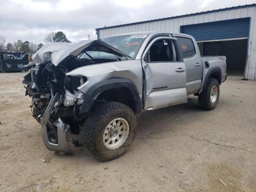
[[[50,141],[48,137],[47,124],[51,115],[51,112],[54,108],[58,100],[59,94],[56,93],[54,97],[50,100],[46,111],[44,112],[44,116],[41,119],[42,124],[42,135],[44,139],[44,144],[48,150],[56,151],[56,152],[64,152],[64,153],[72,153],[68,144],[68,130],[69,125],[64,123],[60,118],[54,123],[57,127],[57,143],[53,143]]]

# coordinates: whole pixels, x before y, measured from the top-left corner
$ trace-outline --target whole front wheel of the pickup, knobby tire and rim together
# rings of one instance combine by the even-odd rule
[[[100,161],[124,154],[135,136],[134,112],[118,102],[94,106],[84,123],[84,146]]]

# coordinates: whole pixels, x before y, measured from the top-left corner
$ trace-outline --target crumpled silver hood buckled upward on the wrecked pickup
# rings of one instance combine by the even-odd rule
[[[48,42],[33,55],[32,59],[36,65],[52,61],[57,66],[60,63],[72,61],[85,49],[86,51],[102,51],[130,57],[101,40],[83,40],[78,43]]]

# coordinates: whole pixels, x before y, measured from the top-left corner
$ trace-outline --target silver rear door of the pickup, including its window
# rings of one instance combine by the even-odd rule
[[[189,37],[176,36],[186,65],[186,90],[191,94],[200,90],[202,84],[202,59],[196,42]],[[196,49],[197,48],[197,49]]]

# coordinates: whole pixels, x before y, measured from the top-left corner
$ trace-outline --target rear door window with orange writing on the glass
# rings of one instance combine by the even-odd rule
[[[190,58],[196,54],[194,44],[190,38],[177,37],[183,58]]]

